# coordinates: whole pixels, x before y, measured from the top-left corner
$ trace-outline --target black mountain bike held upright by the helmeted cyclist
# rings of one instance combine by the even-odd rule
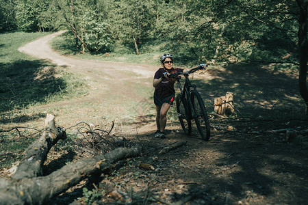
[[[209,118],[207,117],[207,111],[201,95],[196,90],[196,85],[191,84],[188,76],[197,70],[205,70],[203,66],[205,64],[199,65],[197,68],[192,68],[188,72],[176,72],[170,74],[169,77],[173,77],[177,80],[179,85],[180,94],[177,94],[177,115],[179,117],[179,122],[186,135],[192,133],[192,120],[196,122],[198,131],[205,141],[209,140],[211,135],[211,129],[209,126]],[[185,84],[182,88],[181,86],[181,75],[185,77]]]

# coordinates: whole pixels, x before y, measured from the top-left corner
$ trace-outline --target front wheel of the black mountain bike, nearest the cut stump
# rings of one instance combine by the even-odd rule
[[[194,120],[198,131],[205,141],[209,140],[211,135],[211,127],[209,126],[209,118],[207,117],[207,111],[200,94],[193,90],[191,93],[192,109],[194,109]]]

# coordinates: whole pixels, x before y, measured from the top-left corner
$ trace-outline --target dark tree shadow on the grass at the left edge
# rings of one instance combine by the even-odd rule
[[[42,60],[20,60],[0,64],[1,123],[26,122],[27,116],[8,116],[7,111],[47,102],[50,96],[65,90],[66,83],[56,77],[55,66]],[[39,114],[38,118],[41,115]],[[36,118],[34,116],[33,118]]]

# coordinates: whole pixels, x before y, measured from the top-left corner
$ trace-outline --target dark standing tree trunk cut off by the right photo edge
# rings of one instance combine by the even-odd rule
[[[308,90],[307,90],[307,0],[297,0],[300,8],[300,18],[298,20],[298,44],[299,44],[299,56],[300,56],[300,71],[298,75],[298,84],[300,95],[306,102],[306,109],[308,113]]]

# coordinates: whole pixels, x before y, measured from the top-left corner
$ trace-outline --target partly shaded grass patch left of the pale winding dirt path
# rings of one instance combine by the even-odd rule
[[[86,94],[80,76],[48,61],[31,59],[18,47],[48,33],[4,33],[0,46],[0,110],[2,114]]]

